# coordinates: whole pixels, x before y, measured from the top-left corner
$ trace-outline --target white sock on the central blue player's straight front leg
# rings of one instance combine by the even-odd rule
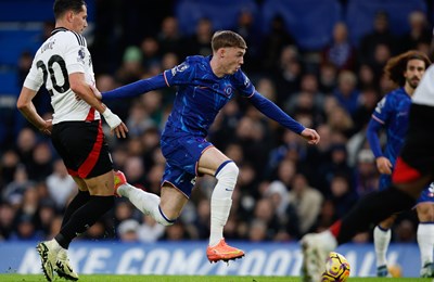
[[[209,246],[217,245],[224,238],[224,227],[228,221],[232,206],[232,193],[235,188],[239,169],[233,162],[226,163],[217,170],[218,180],[210,196]]]

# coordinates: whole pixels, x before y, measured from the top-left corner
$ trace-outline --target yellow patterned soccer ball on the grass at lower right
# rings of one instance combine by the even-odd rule
[[[346,258],[331,252],[326,261],[326,271],[321,275],[322,282],[344,282],[349,277],[349,264]]]

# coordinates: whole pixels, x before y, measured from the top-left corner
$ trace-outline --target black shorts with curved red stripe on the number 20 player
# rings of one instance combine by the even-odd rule
[[[55,124],[51,138],[71,176],[92,178],[113,169],[101,120]]]

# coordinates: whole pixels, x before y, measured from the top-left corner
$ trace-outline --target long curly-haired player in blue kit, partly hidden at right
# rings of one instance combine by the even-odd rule
[[[408,117],[411,95],[418,87],[425,68],[431,64],[429,57],[419,51],[408,51],[391,59],[385,66],[386,75],[399,88],[387,93],[376,105],[368,125],[367,137],[375,156],[376,167],[381,172],[379,189],[392,184],[392,170],[404,144],[408,129]],[[387,143],[382,152],[379,132],[384,129]],[[433,277],[434,249],[434,187],[433,183],[423,190],[416,210],[419,217],[418,243],[421,252],[421,277]],[[391,242],[391,228],[396,215],[381,221],[373,231],[376,255],[376,275],[388,274],[386,252]]]

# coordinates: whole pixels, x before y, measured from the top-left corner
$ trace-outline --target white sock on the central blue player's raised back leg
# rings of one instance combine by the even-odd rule
[[[159,209],[159,196],[125,183],[117,189],[117,193],[128,200],[144,215],[150,215],[163,226],[171,226],[174,220],[168,219]]]

